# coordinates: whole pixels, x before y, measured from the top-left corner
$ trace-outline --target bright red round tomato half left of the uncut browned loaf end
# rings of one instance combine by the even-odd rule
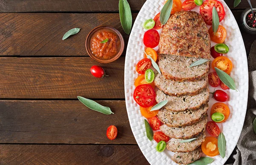
[[[148,48],[157,47],[159,40],[160,40],[159,33],[155,29],[150,29],[146,31],[143,37],[143,43]]]

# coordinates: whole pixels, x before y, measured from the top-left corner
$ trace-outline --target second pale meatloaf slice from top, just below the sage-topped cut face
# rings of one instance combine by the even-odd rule
[[[199,81],[172,81],[155,72],[154,84],[166,95],[196,95],[208,87],[208,77]]]

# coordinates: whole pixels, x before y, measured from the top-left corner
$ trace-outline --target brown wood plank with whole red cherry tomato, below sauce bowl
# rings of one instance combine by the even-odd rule
[[[99,64],[90,57],[0,58],[0,98],[125,98],[124,63]],[[100,65],[109,75],[95,78],[90,67]]]

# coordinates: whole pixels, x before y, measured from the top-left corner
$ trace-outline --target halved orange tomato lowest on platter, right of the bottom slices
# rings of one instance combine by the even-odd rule
[[[215,137],[206,137],[201,145],[202,151],[209,157],[214,157],[219,154],[218,139]]]

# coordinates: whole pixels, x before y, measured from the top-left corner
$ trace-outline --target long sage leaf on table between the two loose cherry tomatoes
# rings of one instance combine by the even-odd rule
[[[92,101],[87,98],[83,98],[81,96],[77,96],[77,98],[79,101],[81,101],[81,103],[83,103],[85,106],[87,106],[88,108],[90,108],[94,111],[101,112],[105,115],[114,114],[108,106],[102,106],[95,101]]]

